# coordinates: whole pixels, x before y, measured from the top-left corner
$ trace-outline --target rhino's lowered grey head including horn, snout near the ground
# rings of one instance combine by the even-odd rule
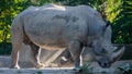
[[[107,25],[103,35],[92,41],[97,62],[101,67],[110,67],[124,52],[124,47],[113,47],[111,44],[111,27]]]

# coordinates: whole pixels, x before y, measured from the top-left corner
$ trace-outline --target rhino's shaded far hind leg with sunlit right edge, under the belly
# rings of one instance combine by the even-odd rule
[[[33,42],[30,44],[31,46],[31,62],[35,65],[36,69],[43,69],[43,64],[40,61],[41,48],[34,45]]]

